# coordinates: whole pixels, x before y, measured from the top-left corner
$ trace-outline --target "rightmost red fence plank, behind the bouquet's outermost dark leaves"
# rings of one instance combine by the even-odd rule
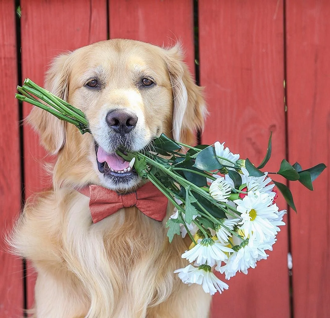
[[[286,4],[289,159],[303,167],[330,165],[330,2]],[[291,214],[294,316],[330,312],[330,172],[314,192],[290,185],[297,214]]]

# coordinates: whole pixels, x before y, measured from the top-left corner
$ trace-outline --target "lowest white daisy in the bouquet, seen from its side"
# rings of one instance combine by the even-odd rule
[[[212,273],[209,265],[199,267],[188,265],[174,272],[179,273],[179,278],[183,283],[202,285],[204,292],[211,295],[214,295],[217,291],[221,294],[225,289],[228,289],[228,285]]]

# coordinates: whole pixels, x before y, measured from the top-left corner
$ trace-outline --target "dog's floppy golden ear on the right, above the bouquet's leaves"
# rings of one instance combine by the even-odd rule
[[[173,89],[173,138],[196,144],[196,133],[203,130],[207,111],[203,89],[194,83],[182,59],[180,44],[167,51],[166,63]]]

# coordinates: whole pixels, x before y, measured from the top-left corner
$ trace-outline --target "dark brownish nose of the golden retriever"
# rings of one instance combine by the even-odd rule
[[[136,126],[138,117],[123,109],[115,109],[107,114],[105,120],[110,128],[123,136]]]

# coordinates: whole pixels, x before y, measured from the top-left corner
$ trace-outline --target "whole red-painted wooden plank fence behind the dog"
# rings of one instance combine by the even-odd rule
[[[195,15],[200,64],[196,76],[205,86],[210,111],[202,141],[226,140],[234,152],[258,162],[272,130],[276,155],[270,169],[275,170],[285,156],[303,166],[321,161],[329,165],[330,2],[20,0],[20,8],[19,32],[15,1],[0,0],[1,232],[10,229],[20,210],[21,163],[25,193],[30,195],[48,185],[42,162],[51,160],[28,126],[19,130],[16,35],[22,78],[29,76],[37,83],[43,83],[47,65],[58,53],[108,36],[164,46],[180,40],[194,74]],[[26,116],[30,107],[23,109]],[[298,214],[290,213],[289,225],[278,235],[267,261],[248,276],[231,279],[229,290],[214,297],[212,317],[328,317],[329,170],[315,182],[317,192],[308,193],[300,184],[290,187]],[[283,200],[279,204],[285,207]],[[22,263],[6,252],[2,238],[0,261],[0,317],[20,317],[24,297],[29,307],[33,304],[33,271],[27,269],[24,289]]]

